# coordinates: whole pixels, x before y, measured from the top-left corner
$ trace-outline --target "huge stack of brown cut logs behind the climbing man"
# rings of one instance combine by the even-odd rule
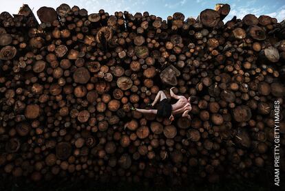
[[[229,11],[165,21],[62,4],[40,8],[41,23],[28,5],[2,12],[1,177],[179,185],[272,170],[277,102],[285,145],[285,23],[223,22]],[[130,111],[172,86],[191,96],[192,120]]]

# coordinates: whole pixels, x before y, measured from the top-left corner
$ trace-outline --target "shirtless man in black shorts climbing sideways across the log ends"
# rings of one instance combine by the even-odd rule
[[[190,115],[188,114],[189,111],[191,111],[191,103],[190,103],[190,97],[187,99],[183,95],[176,95],[173,93],[172,87],[170,89],[170,95],[171,98],[174,98],[178,100],[175,104],[169,104],[167,101],[167,96],[163,91],[158,91],[158,94],[156,95],[156,98],[154,99],[154,102],[149,103],[147,106],[154,106],[158,100],[160,100],[160,103],[158,104],[158,109],[137,109],[134,106],[131,106],[131,110],[138,111],[140,113],[153,113],[156,114],[158,117],[169,117],[169,120],[172,122],[174,120],[174,116],[178,113],[182,113],[182,117],[187,117],[189,120],[191,120]]]

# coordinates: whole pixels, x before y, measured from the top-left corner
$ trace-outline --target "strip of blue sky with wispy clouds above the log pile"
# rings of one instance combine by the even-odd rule
[[[182,12],[186,17],[197,17],[198,14],[206,8],[214,8],[215,3],[229,3],[231,5],[231,12],[226,17],[226,21],[231,19],[234,15],[241,18],[245,14],[255,14],[260,16],[266,14],[278,19],[279,22],[285,19],[285,1],[266,1],[266,0],[249,0],[249,1],[211,1],[211,0],[10,0],[1,1],[0,12],[8,11],[11,14],[17,14],[19,8],[23,3],[34,8],[34,13],[41,6],[56,8],[61,3],[67,3],[70,6],[78,5],[80,8],[85,8],[89,13],[98,12],[104,9],[109,14],[114,14],[116,11],[127,10],[131,13],[148,11],[150,14],[167,19],[167,16],[174,12]]]

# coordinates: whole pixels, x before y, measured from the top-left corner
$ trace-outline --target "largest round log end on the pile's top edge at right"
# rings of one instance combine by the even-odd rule
[[[206,9],[198,16],[198,21],[205,27],[215,27],[220,21],[220,14],[215,10]]]

